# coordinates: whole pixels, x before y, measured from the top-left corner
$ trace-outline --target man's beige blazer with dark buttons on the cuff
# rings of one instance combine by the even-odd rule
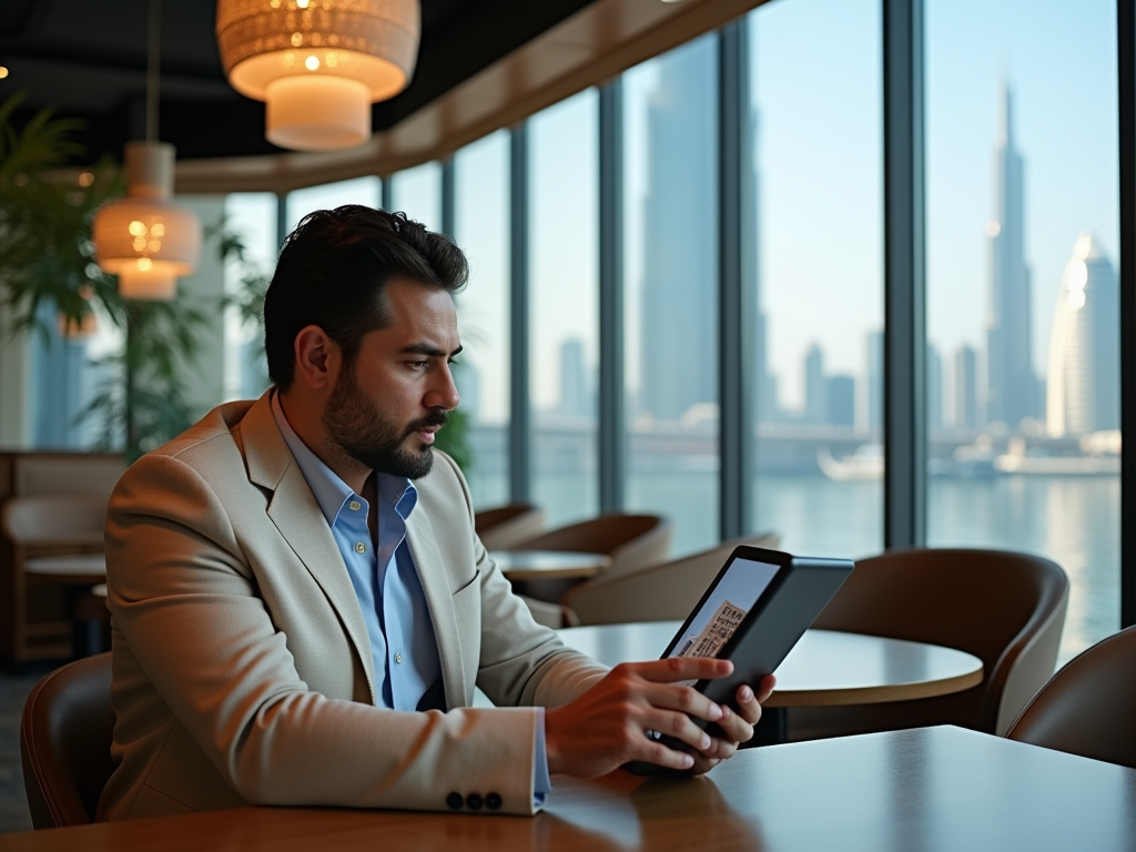
[[[268,394],[214,409],[123,475],[107,515],[118,763],[101,819],[243,804],[533,812],[537,711],[604,669],[533,621],[436,453],[407,540],[446,712],[375,707],[362,612]],[[498,704],[471,708],[474,685]]]

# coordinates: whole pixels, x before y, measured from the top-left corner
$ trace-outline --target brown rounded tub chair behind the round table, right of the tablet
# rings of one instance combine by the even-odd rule
[[[983,661],[983,682],[916,701],[794,708],[790,738],[926,725],[1005,733],[1053,673],[1068,595],[1056,563],[1025,553],[902,549],[858,561],[813,627],[966,651]]]

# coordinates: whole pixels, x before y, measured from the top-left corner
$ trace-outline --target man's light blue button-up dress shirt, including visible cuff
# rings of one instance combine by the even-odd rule
[[[407,545],[407,518],[418,503],[418,491],[407,478],[376,471],[378,535],[373,542],[367,501],[295,434],[275,392],[272,404],[281,435],[331,527],[359,599],[370,638],[376,700],[392,710],[416,710],[426,691],[442,676],[426,593]],[[537,711],[533,791],[541,804],[552,783],[544,745],[544,709]]]

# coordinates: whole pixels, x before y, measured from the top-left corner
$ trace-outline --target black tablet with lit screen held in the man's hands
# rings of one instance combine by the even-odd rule
[[[736,709],[737,687],[757,686],[777,669],[852,568],[849,559],[737,548],[662,657],[730,660],[733,675],[699,680],[694,686],[711,701]],[[702,728],[711,724],[704,719],[694,722]]]

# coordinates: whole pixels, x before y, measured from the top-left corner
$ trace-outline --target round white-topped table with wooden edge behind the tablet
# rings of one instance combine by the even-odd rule
[[[567,627],[560,638],[607,666],[655,660],[682,621]],[[977,686],[983,661],[941,645],[835,630],[807,630],[778,667],[769,708],[875,704]]]

